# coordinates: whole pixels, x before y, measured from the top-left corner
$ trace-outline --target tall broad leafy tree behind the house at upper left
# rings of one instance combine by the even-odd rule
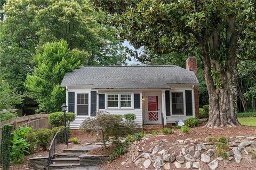
[[[60,39],[87,54],[84,64],[125,64],[123,46],[112,36],[113,28],[98,23],[86,4],[86,0],[6,1],[0,31],[2,79],[26,91],[23,82],[37,64],[30,62],[36,49]]]

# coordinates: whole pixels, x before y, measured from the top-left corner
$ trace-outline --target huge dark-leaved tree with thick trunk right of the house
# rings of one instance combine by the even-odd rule
[[[237,126],[238,41],[254,41],[256,1],[93,1],[134,47],[152,54],[201,50],[209,93],[207,127]],[[190,48],[183,44],[191,44]],[[185,47],[185,48],[184,48]],[[249,46],[244,46],[245,51]],[[254,57],[250,57],[253,59]]]

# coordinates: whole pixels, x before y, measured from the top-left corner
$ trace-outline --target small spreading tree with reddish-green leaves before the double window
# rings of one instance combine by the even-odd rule
[[[121,115],[110,115],[106,111],[99,111],[96,117],[85,119],[80,129],[87,132],[99,131],[106,148],[106,141],[109,140],[109,137],[114,137],[115,140],[118,140],[118,137],[125,136],[131,132],[133,127],[129,126],[132,124],[132,120],[130,120],[124,122]]]

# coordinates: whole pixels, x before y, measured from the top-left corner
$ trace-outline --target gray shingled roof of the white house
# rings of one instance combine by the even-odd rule
[[[170,88],[170,84],[198,85],[193,71],[178,66],[84,66],[68,72],[61,86],[105,88]]]

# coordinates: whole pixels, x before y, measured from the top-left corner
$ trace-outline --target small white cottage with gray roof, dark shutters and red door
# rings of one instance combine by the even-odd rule
[[[76,114],[71,128],[79,128],[99,110],[136,115],[138,126],[170,124],[198,114],[196,58],[178,66],[84,66],[68,72],[68,111]]]

